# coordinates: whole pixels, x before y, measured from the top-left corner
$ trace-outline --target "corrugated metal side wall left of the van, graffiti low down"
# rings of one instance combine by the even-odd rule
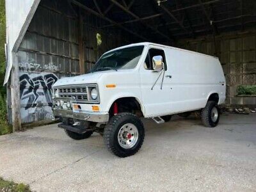
[[[42,0],[20,45],[22,123],[51,120],[51,86],[61,77],[80,74],[78,18],[68,1]],[[102,52],[127,44],[118,29],[99,30],[104,21],[84,14],[84,56],[89,70]],[[97,46],[96,34],[102,35]]]

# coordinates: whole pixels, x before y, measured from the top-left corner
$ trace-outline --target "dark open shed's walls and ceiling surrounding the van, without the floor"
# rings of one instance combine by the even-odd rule
[[[52,84],[84,74],[102,53],[136,42],[217,56],[227,81],[226,104],[256,104],[255,97],[237,95],[237,86],[256,84],[255,0],[41,0],[31,4],[14,40],[17,49],[7,49],[12,58],[8,65],[14,67],[9,71],[8,116],[16,127],[51,121]],[[6,6],[8,18],[15,16],[8,15],[10,6]],[[18,8],[21,12],[22,6]],[[9,20],[7,25],[10,30],[15,24]]]

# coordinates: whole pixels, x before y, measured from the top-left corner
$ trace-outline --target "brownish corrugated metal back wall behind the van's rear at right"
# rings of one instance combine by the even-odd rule
[[[216,49],[214,48],[216,46]],[[237,97],[237,86],[256,84],[256,32],[233,32],[199,40],[182,40],[179,47],[205,54],[216,55],[227,81],[226,104],[256,104],[255,97]]]

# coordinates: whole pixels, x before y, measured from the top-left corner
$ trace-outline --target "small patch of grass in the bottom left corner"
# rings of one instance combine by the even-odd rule
[[[25,184],[16,184],[13,181],[4,180],[0,177],[0,191],[1,192],[29,192],[28,185]]]

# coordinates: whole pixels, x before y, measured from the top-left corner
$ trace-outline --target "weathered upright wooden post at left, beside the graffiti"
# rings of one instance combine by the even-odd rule
[[[13,132],[22,131],[20,118],[20,83],[19,65],[16,52],[12,52],[12,72],[11,72],[11,97],[12,97],[12,126]]]

